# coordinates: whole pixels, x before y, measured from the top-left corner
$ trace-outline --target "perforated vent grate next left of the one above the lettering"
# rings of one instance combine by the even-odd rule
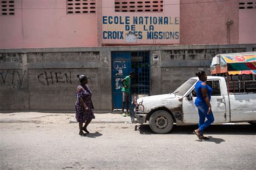
[[[96,0],[66,0],[66,13],[96,13]]]

